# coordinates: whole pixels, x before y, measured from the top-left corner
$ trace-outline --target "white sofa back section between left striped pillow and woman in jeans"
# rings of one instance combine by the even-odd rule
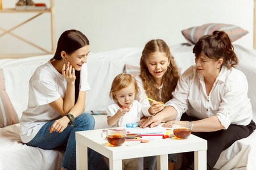
[[[20,118],[22,112],[27,109],[29,80],[37,67],[46,63],[51,55],[36,56],[19,59],[8,59],[1,63],[5,76],[6,92],[11,103]]]

